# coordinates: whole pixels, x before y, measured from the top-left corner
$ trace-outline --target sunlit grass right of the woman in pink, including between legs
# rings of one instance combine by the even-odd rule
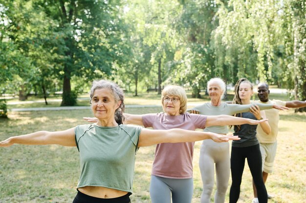
[[[268,203],[304,203],[306,198],[306,113],[294,113],[294,110],[280,112],[278,149],[274,163],[274,173],[267,179],[268,193],[275,198]],[[194,156],[194,198],[193,203],[200,202],[202,183],[198,167],[198,154],[201,142],[195,146]],[[229,188],[225,202],[229,202]],[[216,192],[216,185],[211,201]],[[247,162],[242,176],[240,200],[238,203],[251,203],[253,199],[252,176]]]

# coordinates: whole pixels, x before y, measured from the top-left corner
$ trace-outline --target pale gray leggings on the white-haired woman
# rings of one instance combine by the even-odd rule
[[[210,203],[215,182],[215,164],[217,177],[215,203],[224,203],[230,177],[229,144],[204,140],[201,145],[199,157],[199,167],[203,182],[201,203]]]

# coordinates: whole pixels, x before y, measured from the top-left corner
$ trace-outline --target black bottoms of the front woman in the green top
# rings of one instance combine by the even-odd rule
[[[78,191],[72,203],[131,203],[130,195],[131,193],[128,193],[122,197],[104,199],[92,197]]]

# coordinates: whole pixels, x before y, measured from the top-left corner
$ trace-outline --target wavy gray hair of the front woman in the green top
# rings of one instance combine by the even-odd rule
[[[118,125],[123,124],[125,117],[123,115],[124,110],[125,110],[125,105],[124,105],[124,92],[123,90],[119,87],[114,82],[108,81],[108,80],[95,80],[92,82],[92,86],[90,89],[90,104],[91,104],[91,99],[93,96],[93,93],[95,90],[98,89],[108,89],[112,96],[115,99],[115,102],[117,103],[118,101],[121,101],[121,105],[119,108],[115,111],[115,120],[118,123]]]

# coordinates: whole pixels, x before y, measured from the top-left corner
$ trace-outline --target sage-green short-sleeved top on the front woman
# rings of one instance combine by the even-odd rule
[[[135,155],[141,127],[95,124],[75,128],[81,174],[78,188],[103,186],[132,193]]]

